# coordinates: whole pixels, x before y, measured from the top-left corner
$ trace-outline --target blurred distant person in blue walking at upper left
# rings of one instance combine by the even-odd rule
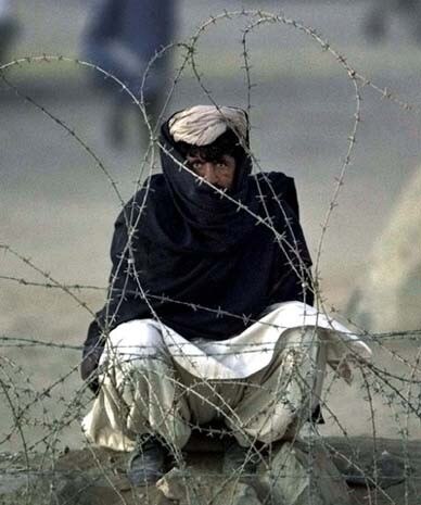
[[[140,98],[148,63],[173,41],[175,4],[175,1],[167,0],[98,0],[82,37],[84,59],[117,77]],[[143,89],[145,109],[152,123],[157,119],[169,71],[170,56],[166,51],[150,68]],[[120,147],[125,140],[130,97],[100,73],[97,73],[94,84],[110,100],[107,139],[114,147]],[[144,129],[143,116],[139,115],[140,127]]]

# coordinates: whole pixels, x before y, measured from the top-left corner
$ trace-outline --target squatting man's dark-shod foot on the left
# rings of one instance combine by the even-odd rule
[[[166,450],[156,437],[142,435],[127,467],[131,485],[153,484],[161,479],[164,475],[165,456]]]

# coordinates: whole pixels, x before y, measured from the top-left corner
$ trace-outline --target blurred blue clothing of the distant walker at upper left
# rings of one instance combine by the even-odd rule
[[[173,0],[98,0],[84,36],[84,58],[118,77],[139,96],[146,64],[173,42],[175,3]],[[148,96],[161,93],[167,65],[168,52],[150,71]],[[103,86],[112,85],[102,74],[97,77]],[[122,94],[128,99],[126,93]]]

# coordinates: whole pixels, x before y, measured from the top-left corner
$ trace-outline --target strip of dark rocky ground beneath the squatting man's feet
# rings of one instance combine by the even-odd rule
[[[271,455],[264,455],[256,475],[246,476],[240,470],[230,475],[224,472],[222,445],[208,440],[201,452],[184,453],[186,466],[169,471],[163,479],[166,484],[158,482],[158,489],[154,485],[132,488],[126,477],[127,455],[109,450],[69,450],[54,457],[38,455],[29,460],[22,454],[0,454],[0,500],[4,505],[44,505],[52,500],[58,505],[169,505],[177,497],[179,505],[210,501],[220,505],[244,505],[267,503],[269,494],[279,497],[280,491],[284,495],[290,490],[290,494],[293,491],[296,495],[299,489],[302,494],[297,503],[307,503],[311,489],[311,498],[308,497],[311,503],[419,503],[421,459],[416,441],[403,446],[400,440],[378,439],[374,445],[370,438],[328,438],[324,443],[312,449],[303,442],[278,444]],[[297,474],[294,477],[292,466],[280,466],[277,456],[280,451],[289,454],[290,465],[295,462]],[[303,472],[310,458],[317,460],[311,477]],[[168,465],[168,469],[171,466]],[[269,489],[264,478],[268,468],[272,474]],[[349,480],[352,477],[354,482]],[[308,484],[308,479],[312,479],[312,485]],[[323,493],[321,502],[316,498],[320,491]]]

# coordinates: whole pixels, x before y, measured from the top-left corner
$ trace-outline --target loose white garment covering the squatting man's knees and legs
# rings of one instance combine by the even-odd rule
[[[326,365],[347,381],[347,358],[370,349],[299,302],[268,312],[224,341],[188,341],[154,319],[119,325],[100,361],[99,395],[82,421],[89,441],[131,451],[157,433],[181,449],[192,427],[224,421],[243,446],[299,429],[320,401]]]

